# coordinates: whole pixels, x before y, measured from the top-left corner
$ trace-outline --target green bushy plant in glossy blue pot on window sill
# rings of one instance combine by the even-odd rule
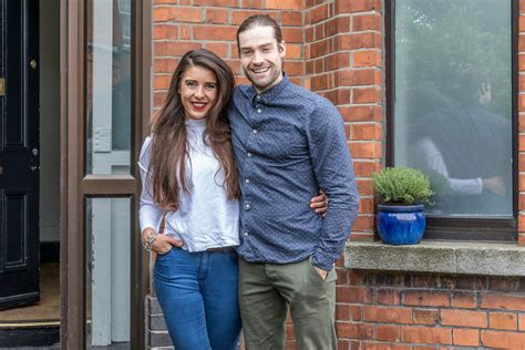
[[[426,225],[424,204],[434,194],[419,169],[387,167],[372,174],[372,189],[381,198],[377,226],[381,240],[391,245],[421,241]]]

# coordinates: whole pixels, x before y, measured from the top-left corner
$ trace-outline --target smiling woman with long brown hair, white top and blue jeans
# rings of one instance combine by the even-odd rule
[[[239,188],[226,115],[234,87],[217,55],[186,53],[138,162],[142,241],[157,254],[156,295],[177,350],[238,347]],[[326,209],[323,196],[312,200]]]

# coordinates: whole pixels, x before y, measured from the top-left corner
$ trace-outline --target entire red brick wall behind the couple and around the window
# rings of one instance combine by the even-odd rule
[[[387,0],[384,0],[387,1]],[[178,58],[207,48],[246,82],[236,27],[269,13],[284,28],[285,70],[341,112],[361,202],[352,239],[371,240],[371,173],[384,159],[384,52],[381,0],[154,0],[154,105],[162,104]],[[525,33],[525,0],[519,0]],[[519,90],[525,92],[525,34],[519,37]],[[519,172],[525,174],[525,94],[518,96]],[[525,176],[519,175],[519,210]],[[525,246],[525,212],[518,216]],[[482,276],[379,274],[338,266],[339,349],[525,348],[525,280]],[[168,346],[154,298],[146,302],[151,346]],[[288,348],[295,348],[288,323]]]

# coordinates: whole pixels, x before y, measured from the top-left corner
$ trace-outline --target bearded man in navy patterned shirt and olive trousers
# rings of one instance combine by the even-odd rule
[[[244,21],[237,43],[251,82],[236,89],[230,106],[246,348],[284,349],[289,307],[299,349],[337,349],[333,265],[359,202],[341,116],[288,80],[286,45],[270,17]],[[307,205],[319,188],[330,198],[325,217]]]

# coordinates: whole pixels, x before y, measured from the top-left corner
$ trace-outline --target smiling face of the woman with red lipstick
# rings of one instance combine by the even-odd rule
[[[213,71],[198,65],[186,70],[178,86],[186,119],[206,119],[217,103],[217,78]]]

